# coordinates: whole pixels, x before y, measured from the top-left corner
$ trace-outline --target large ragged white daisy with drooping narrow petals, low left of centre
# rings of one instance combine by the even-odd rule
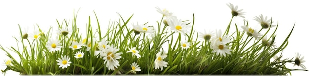
[[[117,59],[121,58],[120,55],[122,53],[121,52],[116,53],[117,51],[119,51],[119,49],[112,46],[103,51],[104,64],[106,65],[106,67],[108,67],[109,70],[115,70],[115,68],[118,68],[118,66],[120,66],[119,61]]]

